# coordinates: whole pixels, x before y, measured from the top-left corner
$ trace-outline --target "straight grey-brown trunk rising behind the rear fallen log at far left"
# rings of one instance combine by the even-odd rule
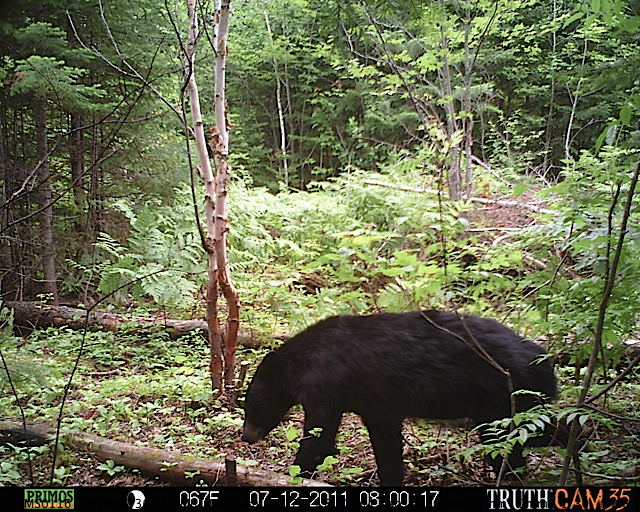
[[[40,188],[40,245],[42,247],[42,270],[44,273],[43,292],[48,295],[52,304],[58,304],[58,287],[56,284],[56,267],[53,251],[53,205],[51,203],[51,181],[49,173],[49,156],[47,147],[47,100],[37,98],[36,105],[36,139]]]

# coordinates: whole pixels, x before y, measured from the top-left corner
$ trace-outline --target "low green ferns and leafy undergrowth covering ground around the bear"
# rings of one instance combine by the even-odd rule
[[[580,165],[594,167],[593,158]],[[563,199],[563,187],[573,192],[569,201]],[[515,198],[520,206],[452,204],[424,189],[421,176],[397,170],[354,172],[315,184],[309,192],[277,196],[234,185],[230,263],[242,298],[243,328],[255,338],[251,348],[238,352],[238,360],[249,365],[240,404],[257,363],[281,343],[276,333],[295,334],[336,314],[456,309],[493,317],[542,343],[557,357],[561,396],[549,410],[524,415],[516,433],[492,447],[478,447],[478,435],[464,422],[406,421],[406,484],[494,484],[483,454],[524,441],[531,435],[528,425],[543,414],[589,426],[591,440],[580,454],[584,482],[637,482],[637,368],[604,400],[573,407],[589,357],[607,244],[621,214],[621,207],[606,202],[610,187],[567,175],[542,195],[521,187]],[[493,193],[485,199],[514,200],[493,182],[487,189]],[[188,220],[189,201],[190,191],[181,190],[168,207],[134,212],[121,205],[129,234],[120,241],[100,239],[102,264],[98,272],[85,269],[87,281],[79,288],[95,294],[77,296],[75,303],[117,290],[105,308],[136,314],[162,308],[172,316],[202,318],[204,262]],[[581,210],[587,207],[588,215]],[[556,213],[532,211],[539,209]],[[609,233],[602,227],[607,218]],[[594,392],[633,357],[637,294],[631,283],[640,272],[639,241],[631,227],[623,247],[625,277],[612,295]],[[123,288],[127,282],[133,284]],[[84,343],[84,333],[65,328],[19,338],[11,331],[10,311],[5,308],[3,315],[0,342],[16,392],[3,378],[0,416],[20,417],[19,404],[27,420],[55,425],[83,346],[64,406],[63,432],[81,430],[218,461],[232,453],[240,465],[289,473],[302,411],[294,409],[260,443],[241,442],[242,410],[212,397],[208,345],[200,333],[171,340],[161,328],[123,325],[118,332],[86,333]],[[366,429],[357,416],[343,418],[337,447],[339,453],[325,460],[318,478],[335,485],[377,482]],[[61,449],[54,485],[153,483],[135,469]],[[560,448],[536,449],[527,468],[504,483],[554,485],[562,455]],[[1,446],[0,485],[48,485],[51,456],[50,445]],[[290,474],[295,483],[295,469]],[[197,483],[197,474],[193,479]]]

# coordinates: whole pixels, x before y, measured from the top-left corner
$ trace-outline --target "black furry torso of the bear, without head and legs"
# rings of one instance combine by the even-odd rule
[[[509,405],[506,376],[479,344],[511,372],[514,389],[555,397],[544,350],[495,320],[451,312],[383,313],[323,320],[286,342],[291,386],[300,401],[327,400],[345,410],[388,409],[407,416],[474,417]],[[430,412],[437,414],[430,416]],[[505,412],[508,414],[508,410]],[[492,414],[493,415],[493,414]]]

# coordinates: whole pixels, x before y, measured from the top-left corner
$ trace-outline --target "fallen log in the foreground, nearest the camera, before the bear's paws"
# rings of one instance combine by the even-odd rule
[[[16,436],[30,439],[55,438],[55,429],[42,423],[27,422],[26,434],[22,422],[18,420],[0,421],[0,439]],[[212,462],[179,452],[148,448],[121,441],[106,439],[86,432],[73,431],[62,436],[64,443],[72,449],[89,452],[101,461],[112,460],[115,464],[138,469],[150,476],[157,476],[172,485],[194,485],[203,480],[208,485],[225,485],[224,462]],[[33,443],[35,444],[35,443]],[[198,472],[195,477],[186,476]],[[257,468],[238,466],[235,484],[241,487],[284,487],[291,485],[289,476]],[[317,480],[302,479],[303,487],[329,487]]]

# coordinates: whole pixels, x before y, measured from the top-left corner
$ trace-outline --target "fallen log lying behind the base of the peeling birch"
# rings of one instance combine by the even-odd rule
[[[148,318],[104,311],[92,311],[87,318],[86,310],[69,306],[12,301],[6,302],[5,305],[13,309],[13,323],[19,330],[62,326],[70,329],[83,329],[86,325],[90,330],[117,331],[125,323],[134,323],[143,327],[159,326],[166,329],[172,339],[177,339],[197,329],[200,329],[205,337],[209,333],[207,322],[204,320],[174,320],[166,318],[164,315]],[[240,329],[238,341],[246,347],[259,345],[250,329]]]

